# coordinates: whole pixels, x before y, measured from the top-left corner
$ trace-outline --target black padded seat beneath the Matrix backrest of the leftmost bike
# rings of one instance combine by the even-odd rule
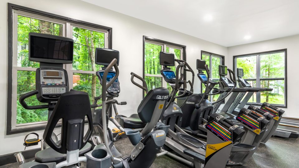
[[[84,156],[85,153],[91,150],[92,150],[92,145],[89,142],[87,142],[86,145],[81,150],[79,150],[79,156]],[[66,154],[56,152],[51,147],[36,152],[35,154],[35,161],[39,163],[47,163],[47,162],[60,163],[65,160],[66,160]]]

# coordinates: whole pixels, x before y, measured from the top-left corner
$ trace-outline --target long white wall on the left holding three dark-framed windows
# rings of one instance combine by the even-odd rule
[[[130,81],[130,72],[142,76],[143,35],[187,46],[187,61],[196,70],[195,60],[200,58],[201,50],[227,55],[227,48],[201,40],[174,30],[151,24],[130,16],[79,0],[2,0],[0,2],[0,75],[7,79],[7,2],[58,14],[82,21],[112,27],[112,47],[120,51],[120,101],[127,105],[119,107],[120,114],[136,113],[142,99],[142,91]],[[227,60],[225,60],[227,64]],[[195,92],[200,92],[199,79],[195,78]],[[27,133],[6,135],[7,81],[0,81],[0,155],[24,150],[23,139]],[[43,130],[36,131],[42,137]],[[39,146],[28,147],[32,149]]]

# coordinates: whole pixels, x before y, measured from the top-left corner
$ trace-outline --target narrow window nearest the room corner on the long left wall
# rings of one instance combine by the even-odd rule
[[[210,78],[213,81],[218,82],[219,81],[219,65],[224,65],[224,56],[218,55],[218,54],[213,54],[210,52],[202,51],[202,60],[206,61],[206,64],[208,65],[210,69]],[[206,71],[204,71],[206,74]],[[219,86],[216,85],[215,88],[219,89]],[[206,86],[202,83],[202,93],[205,91]],[[209,96],[209,100],[211,102],[216,101],[218,99],[219,95],[213,95]]]

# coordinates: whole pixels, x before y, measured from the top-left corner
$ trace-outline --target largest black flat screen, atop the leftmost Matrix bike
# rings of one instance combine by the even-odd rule
[[[39,63],[73,63],[74,40],[56,35],[29,33],[29,60]]]

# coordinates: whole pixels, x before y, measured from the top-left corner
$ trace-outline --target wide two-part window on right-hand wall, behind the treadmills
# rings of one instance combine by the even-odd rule
[[[234,56],[234,68],[243,68],[243,78],[251,86],[273,88],[273,91],[254,93],[249,103],[287,106],[286,55],[287,49]]]

